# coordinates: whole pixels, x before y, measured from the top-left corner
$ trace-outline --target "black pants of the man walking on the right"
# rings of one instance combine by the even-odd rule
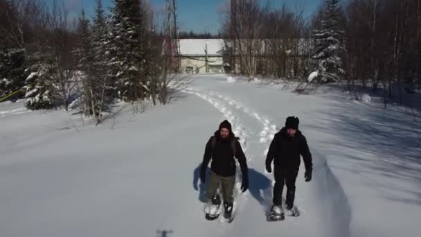
[[[287,184],[287,209],[294,207],[295,198],[295,181],[297,179],[298,170],[275,167],[275,186],[274,186],[274,205],[282,204],[282,193],[284,184]]]

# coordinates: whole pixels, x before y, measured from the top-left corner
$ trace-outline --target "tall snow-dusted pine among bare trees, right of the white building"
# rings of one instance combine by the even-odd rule
[[[332,82],[343,78],[342,55],[343,30],[339,28],[339,17],[343,14],[340,0],[326,0],[321,29],[314,30],[314,54],[312,59],[319,71],[317,82]]]

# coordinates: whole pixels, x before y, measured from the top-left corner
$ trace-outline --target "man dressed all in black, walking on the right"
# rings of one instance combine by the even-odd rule
[[[291,116],[287,118],[285,127],[275,134],[269,147],[266,158],[266,170],[271,173],[271,163],[274,161],[274,200],[272,213],[282,214],[282,192],[284,184],[287,185],[287,213],[289,216],[296,216],[294,209],[295,182],[300,168],[300,155],[303,156],[305,164],[305,181],[312,180],[312,154],[307,145],[304,135],[298,130],[298,118]]]

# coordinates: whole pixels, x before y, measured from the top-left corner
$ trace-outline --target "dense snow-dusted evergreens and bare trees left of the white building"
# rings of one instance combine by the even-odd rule
[[[77,104],[100,121],[116,99],[168,103],[177,87],[162,53],[169,34],[149,1],[114,0],[106,15],[69,17],[64,3],[0,0],[0,98],[21,89],[30,109]]]

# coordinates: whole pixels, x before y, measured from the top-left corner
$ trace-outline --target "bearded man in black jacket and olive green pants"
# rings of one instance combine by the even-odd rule
[[[235,186],[235,158],[240,163],[242,172],[242,191],[245,192],[249,188],[249,175],[247,161],[242,151],[238,138],[232,132],[231,123],[223,121],[211,139],[206,144],[206,149],[201,164],[200,179],[204,183],[206,179],[206,168],[209,161],[211,164],[211,177],[206,195],[213,204],[221,203],[217,188],[222,184],[222,195],[224,198],[224,216],[229,218],[233,211],[233,190]]]

